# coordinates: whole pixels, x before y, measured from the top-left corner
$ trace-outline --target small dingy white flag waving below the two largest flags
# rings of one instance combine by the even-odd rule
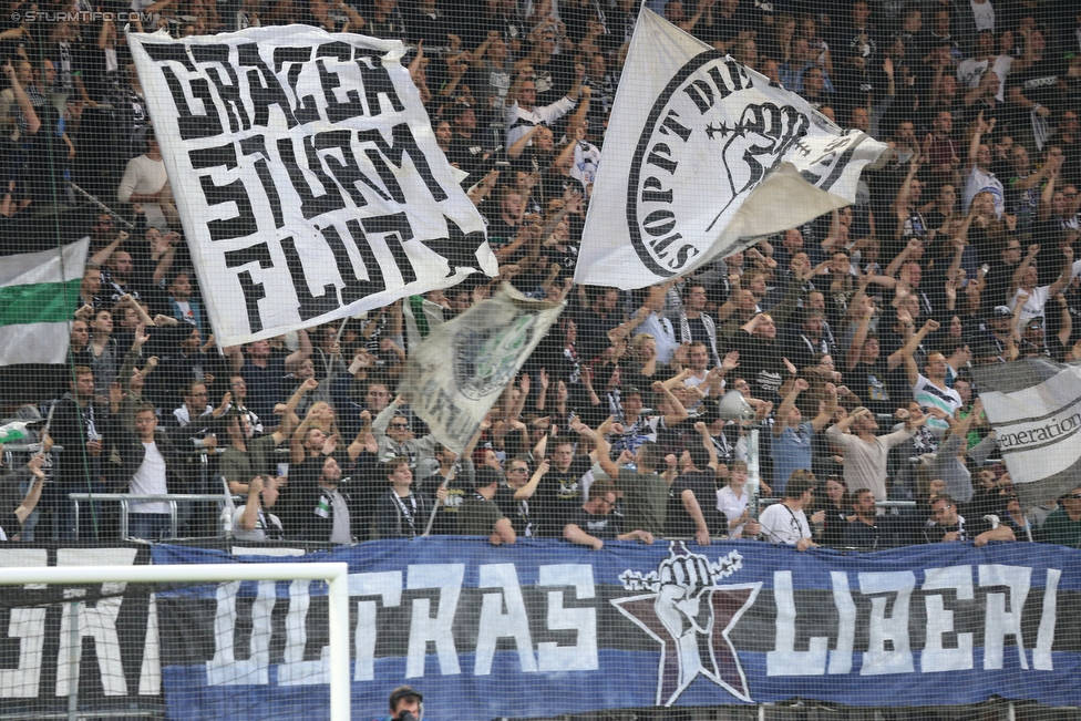
[[[503,284],[410,349],[399,393],[440,443],[461,453],[565,305]]]

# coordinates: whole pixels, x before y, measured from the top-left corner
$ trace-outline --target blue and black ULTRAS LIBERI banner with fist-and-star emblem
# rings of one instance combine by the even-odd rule
[[[1081,704],[1081,552],[1059,546],[842,554],[659,542],[594,552],[425,538],[288,558],[235,550],[244,555],[158,546],[153,560],[349,565],[357,719],[385,714],[401,683],[423,691],[440,721],[793,698]],[[163,638],[186,639],[163,645],[173,718],[325,713],[325,585],[238,583],[157,604]],[[233,648],[229,622],[265,630]],[[195,698],[204,715],[183,701]]]

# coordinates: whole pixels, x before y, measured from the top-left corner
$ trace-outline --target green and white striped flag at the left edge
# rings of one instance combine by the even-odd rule
[[[58,216],[58,218],[61,216]],[[63,363],[90,248],[85,226],[64,218],[16,222],[0,243],[0,365]]]

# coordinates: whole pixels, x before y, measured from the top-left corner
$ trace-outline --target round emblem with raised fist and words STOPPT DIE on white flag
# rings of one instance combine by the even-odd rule
[[[763,80],[707,51],[653,103],[627,186],[631,241],[652,272],[676,276],[696,262],[807,133],[805,114],[755,90]],[[701,172],[702,158],[714,172]]]

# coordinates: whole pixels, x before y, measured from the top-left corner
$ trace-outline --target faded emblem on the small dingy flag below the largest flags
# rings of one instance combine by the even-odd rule
[[[452,362],[459,391],[471,401],[502,392],[514,378],[535,326],[536,316],[523,313],[509,328],[456,334]]]

